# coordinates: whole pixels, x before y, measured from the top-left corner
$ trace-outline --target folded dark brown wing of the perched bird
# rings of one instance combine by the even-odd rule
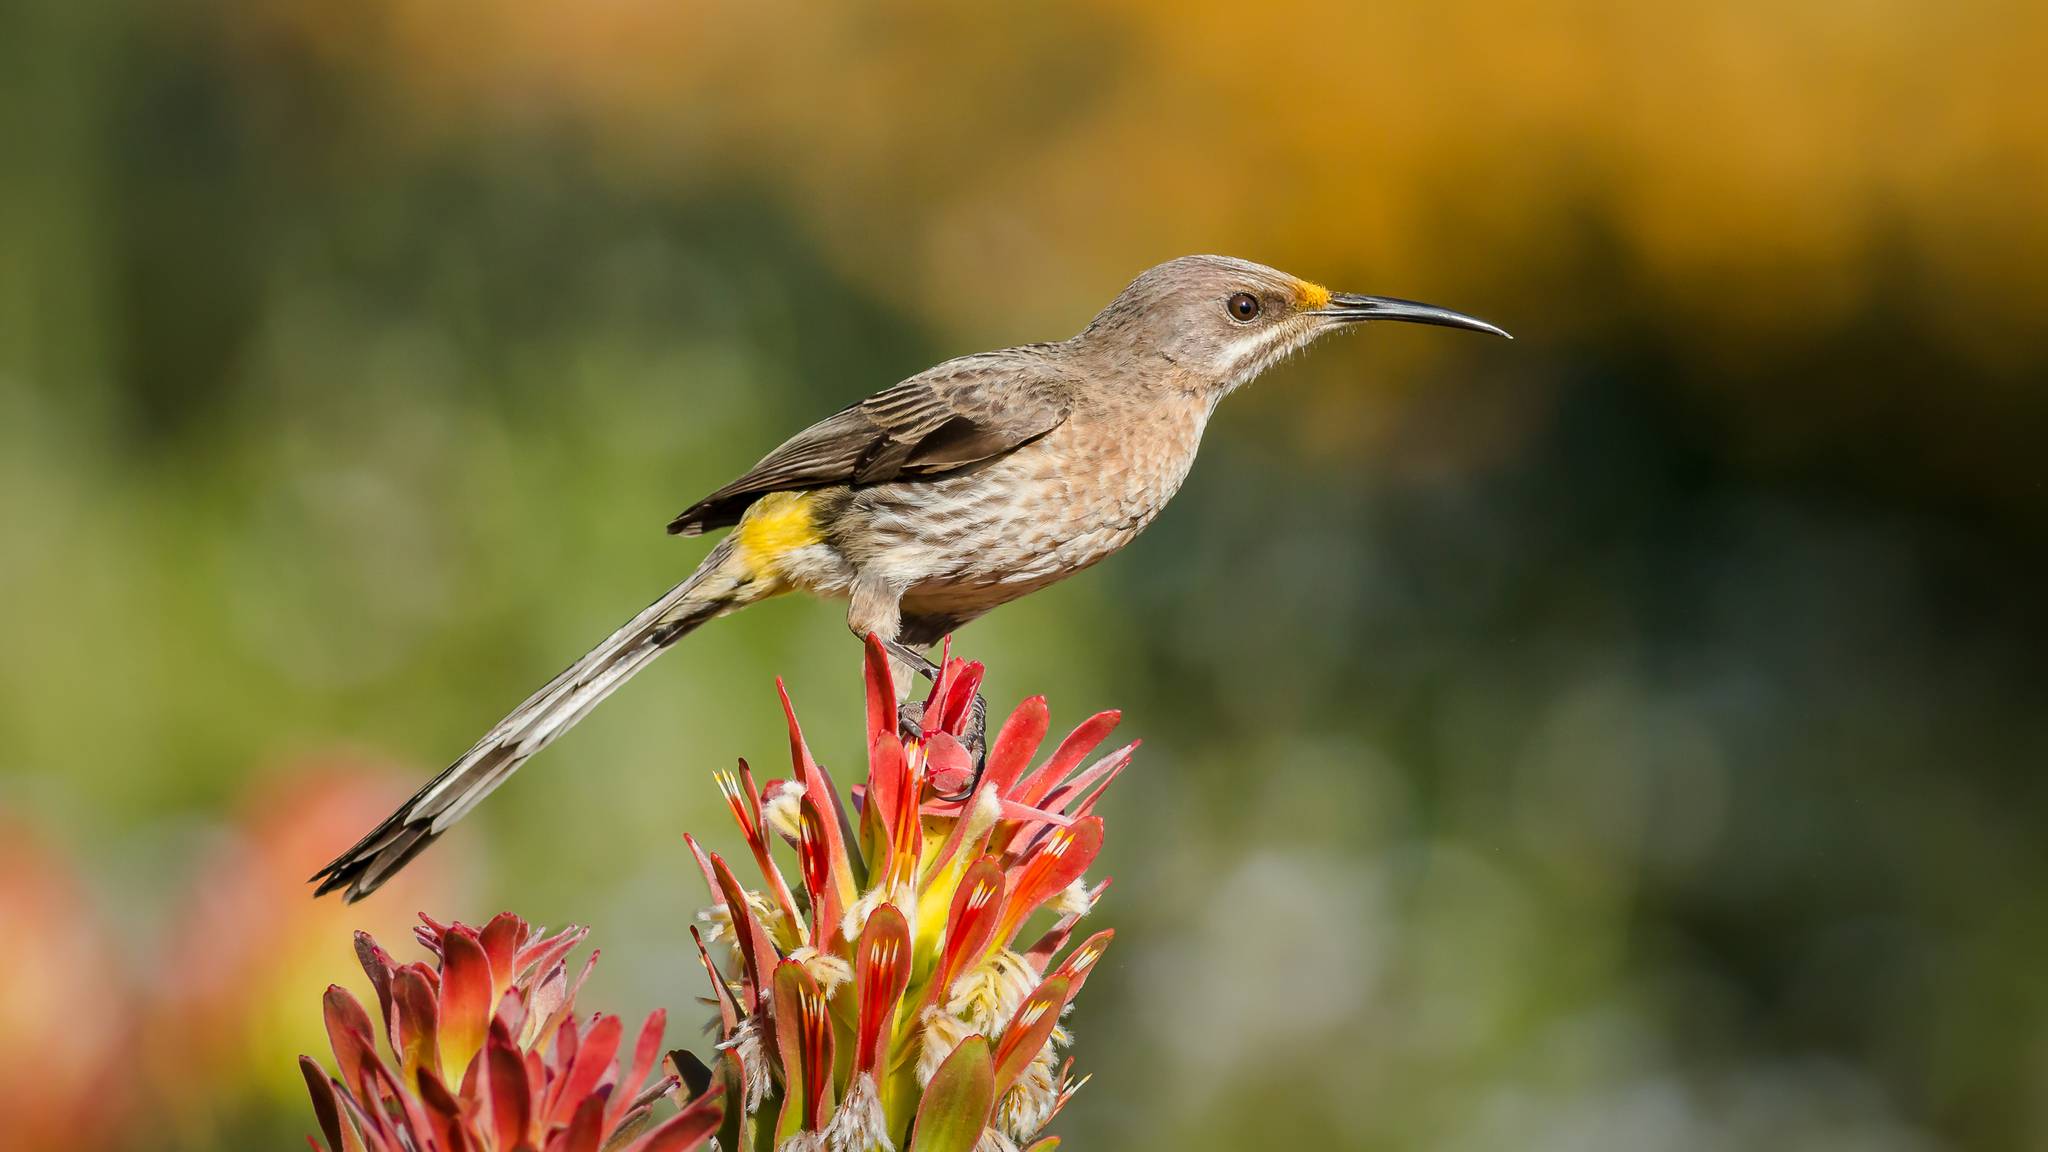
[[[1067,379],[1036,348],[946,361],[797,433],[668,531],[739,523],[768,492],[940,476],[1016,451],[1069,412]]]

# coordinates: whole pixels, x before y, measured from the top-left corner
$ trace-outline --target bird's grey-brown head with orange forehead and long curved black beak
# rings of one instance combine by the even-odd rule
[[[1229,256],[1182,256],[1147,269],[1075,336],[1102,355],[1174,365],[1214,394],[1231,392],[1325,332],[1370,320],[1501,328],[1413,299],[1352,295]],[[1511,336],[1509,336],[1511,338]]]

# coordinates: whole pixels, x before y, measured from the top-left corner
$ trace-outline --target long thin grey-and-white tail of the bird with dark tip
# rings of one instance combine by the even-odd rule
[[[426,851],[528,756],[547,748],[670,644],[764,594],[768,588],[750,580],[745,566],[735,562],[731,539],[719,541],[688,580],[670,588],[604,644],[526,697],[526,703],[485,732],[475,748],[442,769],[383,824],[371,828],[356,847],[313,873],[319,881],[315,896],[346,890],[346,900],[354,902],[377,892],[377,886]]]

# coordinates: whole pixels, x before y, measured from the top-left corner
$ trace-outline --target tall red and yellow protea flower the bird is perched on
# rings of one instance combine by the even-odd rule
[[[793,779],[762,791],[745,760],[719,777],[762,873],[748,890],[688,838],[715,902],[698,949],[719,1009],[721,1148],[1014,1150],[1079,1088],[1057,1056],[1069,1039],[1061,1017],[1110,933],[1067,943],[1108,886],[1083,879],[1102,851],[1092,810],[1135,744],[1075,773],[1116,726],[1108,711],[1026,771],[1047,734],[1044,699],[1032,697],[975,781],[961,734],[979,683],[979,664],[946,660],[924,738],[903,742],[889,660],[870,637],[868,775],[850,806],[786,691]],[[770,832],[797,849],[795,886]],[[1040,912],[1051,927],[1026,939]],[[731,976],[711,941],[731,945]]]

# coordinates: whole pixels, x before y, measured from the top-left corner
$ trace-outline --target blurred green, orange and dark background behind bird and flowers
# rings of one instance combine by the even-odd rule
[[[854,10],[858,8],[858,10]],[[0,1105],[291,1148],[416,910],[694,1039],[721,621],[377,900],[299,879],[938,359],[1186,252],[1495,320],[1233,398],[969,627],[1126,709],[1073,1148],[2048,1148],[2048,6],[0,8]],[[729,847],[729,845],[727,845]],[[16,1142],[18,1140],[18,1142]]]

